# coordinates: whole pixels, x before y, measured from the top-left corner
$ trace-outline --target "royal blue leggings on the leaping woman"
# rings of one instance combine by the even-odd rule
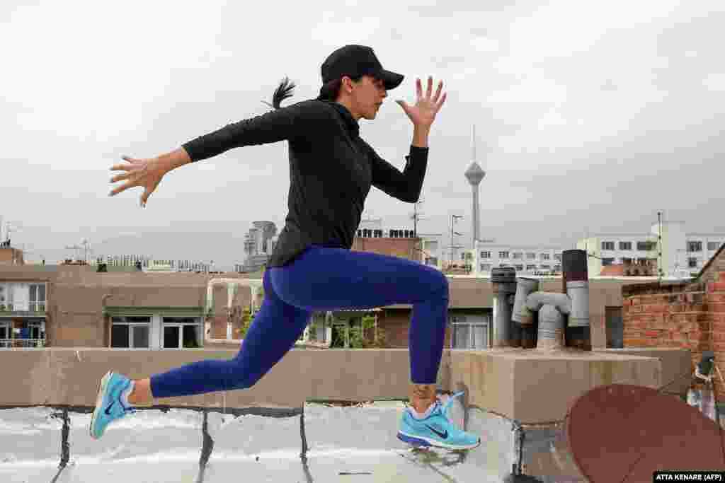
[[[154,398],[252,387],[294,347],[312,311],[413,304],[410,379],[435,384],[443,352],[448,280],[421,263],[312,245],[291,264],[265,271],[264,302],[231,360],[186,364],[151,377]]]

